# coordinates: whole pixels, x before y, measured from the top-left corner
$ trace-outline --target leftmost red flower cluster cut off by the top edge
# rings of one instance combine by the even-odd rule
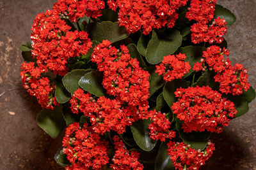
[[[84,17],[100,17],[101,11],[105,8],[102,0],[58,0],[52,7],[57,13],[61,13],[61,17],[77,22],[78,18]]]

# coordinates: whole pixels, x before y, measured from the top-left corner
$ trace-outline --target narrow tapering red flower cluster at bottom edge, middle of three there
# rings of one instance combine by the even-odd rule
[[[118,136],[114,136],[113,141],[115,145],[115,155],[112,159],[113,164],[110,164],[112,169],[142,170],[144,168],[138,161],[140,153],[134,151],[130,153],[125,147],[124,142]]]

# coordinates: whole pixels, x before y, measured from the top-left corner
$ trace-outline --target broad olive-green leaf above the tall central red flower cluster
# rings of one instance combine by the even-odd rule
[[[102,40],[108,39],[112,43],[129,36],[129,33],[124,27],[119,27],[117,22],[110,21],[94,22],[90,24],[89,34],[92,40],[102,42]]]

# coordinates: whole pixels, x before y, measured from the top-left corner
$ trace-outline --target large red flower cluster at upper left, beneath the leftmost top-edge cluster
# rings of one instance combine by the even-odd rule
[[[55,74],[65,75],[68,58],[85,55],[92,47],[87,32],[70,29],[56,11],[48,10],[37,15],[31,29],[31,52],[42,72],[50,69]]]

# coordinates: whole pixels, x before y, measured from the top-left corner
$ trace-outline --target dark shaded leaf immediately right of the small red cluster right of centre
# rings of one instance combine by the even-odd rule
[[[191,73],[193,73],[193,67],[195,63],[200,62],[200,59],[205,50],[206,48],[203,46],[184,46],[179,48],[177,53],[184,53],[186,55],[185,61],[189,62],[189,65],[191,66],[189,73],[187,73],[185,76],[189,76]]]

